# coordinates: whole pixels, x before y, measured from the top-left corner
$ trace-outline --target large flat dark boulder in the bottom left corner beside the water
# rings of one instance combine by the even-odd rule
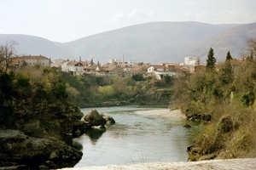
[[[0,162],[77,161],[82,155],[53,137],[32,138],[19,130],[0,130]]]

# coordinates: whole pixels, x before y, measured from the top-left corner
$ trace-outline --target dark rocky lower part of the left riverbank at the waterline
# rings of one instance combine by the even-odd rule
[[[66,140],[88,128],[79,108],[56,103],[34,111],[39,114],[27,121],[20,117],[12,128],[0,127],[0,169],[49,169],[59,162],[79,161],[83,153]]]

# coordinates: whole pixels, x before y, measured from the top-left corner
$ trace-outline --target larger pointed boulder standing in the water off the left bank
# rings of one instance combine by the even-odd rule
[[[88,122],[92,126],[102,125],[102,127],[106,124],[106,120],[96,110],[91,110],[87,115],[85,115],[84,122]]]

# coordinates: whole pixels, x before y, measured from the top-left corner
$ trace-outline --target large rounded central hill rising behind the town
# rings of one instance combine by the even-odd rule
[[[139,59],[160,63],[183,61],[183,51],[234,25],[198,22],[154,22],[128,26],[67,42],[76,56],[99,59]]]

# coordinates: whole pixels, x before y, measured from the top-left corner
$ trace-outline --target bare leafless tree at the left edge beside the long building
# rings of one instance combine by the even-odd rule
[[[0,46],[0,75],[7,73],[12,66],[13,58],[16,56],[14,48],[16,44],[14,41],[9,41]]]

